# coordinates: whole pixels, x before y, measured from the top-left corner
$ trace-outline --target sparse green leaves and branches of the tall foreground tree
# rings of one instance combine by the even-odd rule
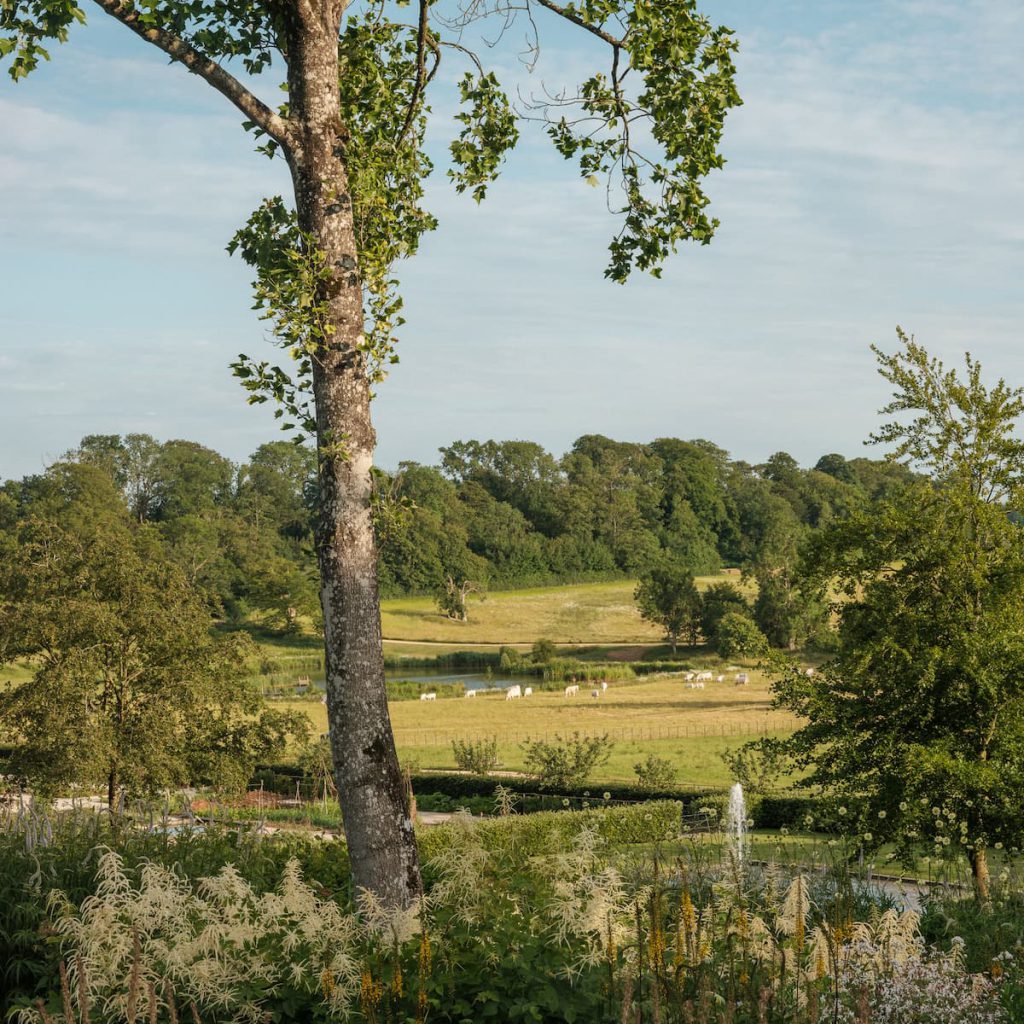
[[[282,86],[284,101],[271,109],[227,69],[237,61],[257,82],[264,75],[283,77],[289,30],[306,0],[92,2],[233,102],[259,152],[294,158],[292,80]],[[50,44],[65,42],[88,7],[75,0],[0,0],[0,60],[8,59],[11,77],[17,81],[49,59]],[[453,80],[437,75],[442,58],[456,61],[457,71],[451,98],[458,133],[446,169],[457,191],[482,201],[518,142],[520,125],[540,121],[586,181],[603,181],[618,222],[605,270],[610,280],[625,282],[634,269],[659,275],[680,242],[711,241],[718,221],[708,215],[702,181],[724,163],[719,144],[725,117],[740,102],[737,43],[694,0],[420,0],[416,7],[408,0],[371,0],[346,7],[338,40],[340,152],[357,253],[341,269],[356,274],[364,290],[359,347],[372,382],[397,358],[395,333],[403,318],[395,264],[415,255],[423,233],[436,226],[423,199],[432,170],[426,152],[430,103]],[[603,68],[575,88],[557,94],[542,89],[517,108],[496,71],[468,44],[479,39],[485,52],[496,36],[521,38],[525,29],[524,59],[532,67],[542,33],[558,22],[597,41]],[[312,361],[330,343],[324,295],[336,268],[282,197],[267,199],[228,248],[254,268],[255,307],[288,355],[282,364],[241,355],[234,372],[250,401],[274,400],[286,429],[312,434],[309,381]]]

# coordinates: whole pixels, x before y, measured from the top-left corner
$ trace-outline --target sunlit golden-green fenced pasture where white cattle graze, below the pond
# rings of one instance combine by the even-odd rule
[[[502,693],[471,700],[394,701],[391,722],[402,761],[421,769],[454,768],[453,739],[497,736],[503,767],[521,770],[523,739],[579,730],[615,740],[595,781],[633,780],[633,766],[653,753],[672,761],[681,784],[721,786],[731,781],[721,760],[724,751],[755,736],[785,734],[797,724],[771,710],[767,678],[748,671],[751,682],[743,687],[726,681],[688,690],[678,679],[654,679],[612,684],[597,700],[586,691],[577,697],[559,691],[511,701]],[[317,732],[327,729],[323,705],[296,701],[292,707],[305,711]]]

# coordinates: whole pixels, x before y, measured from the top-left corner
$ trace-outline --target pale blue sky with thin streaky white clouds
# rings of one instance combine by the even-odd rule
[[[92,7],[86,3],[85,7]],[[743,105],[709,178],[721,226],[664,278],[603,278],[615,229],[537,126],[476,206],[442,170],[440,220],[399,268],[401,361],[375,402],[378,462],[455,439],[706,437],[757,463],[864,454],[888,395],[868,346],[896,325],[1024,384],[1024,5],[702,0],[740,42]],[[98,12],[0,79],[0,479],[86,433],[201,441],[242,461],[281,436],[228,364],[269,358],[225,252],[287,190],[205,83]],[[598,67],[543,19],[536,89]],[[516,37],[506,40],[517,43]],[[452,135],[443,86],[431,146]],[[259,83],[273,98],[275,80]]]

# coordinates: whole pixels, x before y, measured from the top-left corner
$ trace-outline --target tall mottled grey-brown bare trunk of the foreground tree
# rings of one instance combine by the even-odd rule
[[[356,891],[406,906],[422,883],[384,686],[371,513],[376,435],[360,351],[362,288],[338,96],[341,5],[310,7],[317,10],[290,34],[289,103],[301,135],[289,156],[299,226],[332,273],[319,301],[333,333],[312,360],[331,753]],[[324,16],[331,7],[337,8],[333,22]]]

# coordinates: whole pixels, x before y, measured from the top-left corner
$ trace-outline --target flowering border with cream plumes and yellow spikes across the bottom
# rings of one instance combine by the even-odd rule
[[[742,868],[699,842],[674,860],[631,858],[586,816],[548,817],[562,838],[557,819],[581,826],[545,855],[514,819],[431,833],[427,895],[398,914],[371,900],[357,916],[312,883],[308,851],[271,858],[269,873],[251,851],[231,866],[217,837],[184,837],[177,869],[98,851],[85,894],[49,896],[49,985],[17,1019],[164,1022],[194,1004],[212,1024],[1020,1021],[1019,951],[972,973],[963,940],[928,945],[918,914],[872,901],[841,868]],[[196,870],[206,844],[210,866]]]

